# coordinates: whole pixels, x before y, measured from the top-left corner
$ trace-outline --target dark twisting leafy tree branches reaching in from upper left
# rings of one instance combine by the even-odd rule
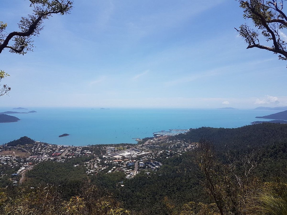
[[[26,54],[33,51],[33,37],[38,36],[44,28],[43,21],[49,19],[53,14],[69,14],[72,7],[72,0],[29,0],[32,8],[32,15],[21,17],[18,31],[6,32],[7,23],[0,21],[0,54],[4,49],[11,53]],[[0,82],[7,77],[7,73],[0,72]],[[1,85],[0,85],[1,87]],[[7,85],[0,88],[0,96],[7,95],[11,90]]]

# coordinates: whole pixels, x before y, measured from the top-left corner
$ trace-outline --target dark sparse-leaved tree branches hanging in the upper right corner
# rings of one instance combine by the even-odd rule
[[[286,35],[287,16],[284,0],[238,0],[243,8],[243,17],[253,22],[253,27],[247,23],[236,29],[248,44],[247,48],[265,49],[278,54],[280,60],[287,60]],[[265,38],[265,39],[264,39]],[[264,40],[264,42],[262,42]]]

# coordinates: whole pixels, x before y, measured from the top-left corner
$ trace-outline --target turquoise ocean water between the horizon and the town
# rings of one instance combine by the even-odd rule
[[[26,107],[28,108],[28,107]],[[153,136],[153,132],[168,129],[189,129],[202,126],[236,128],[279,111],[222,109],[140,109],[140,108],[28,108],[12,110],[0,107],[0,112],[37,113],[9,114],[18,122],[0,123],[0,144],[28,136],[51,144],[84,146],[88,144],[136,143],[133,138]],[[68,133],[69,136],[58,136]]]

